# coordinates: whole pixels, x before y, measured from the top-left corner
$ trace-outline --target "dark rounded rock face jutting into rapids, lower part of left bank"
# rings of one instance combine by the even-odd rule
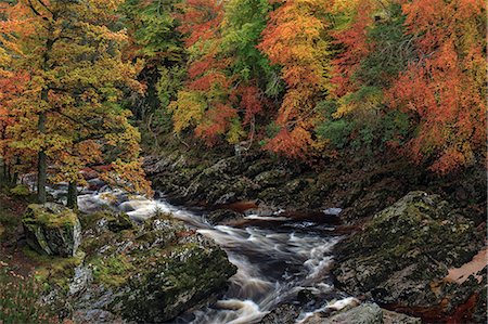
[[[140,323],[171,320],[220,293],[236,270],[215,246],[189,243],[157,256],[133,260],[138,270],[127,280],[130,289],[112,303],[112,308],[121,309],[125,319]]]

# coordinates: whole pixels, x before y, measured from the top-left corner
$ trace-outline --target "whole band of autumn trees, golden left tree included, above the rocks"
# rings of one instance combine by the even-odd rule
[[[136,119],[313,161],[398,151],[484,163],[481,0],[0,1],[0,156],[150,193]],[[48,172],[49,166],[49,172]]]

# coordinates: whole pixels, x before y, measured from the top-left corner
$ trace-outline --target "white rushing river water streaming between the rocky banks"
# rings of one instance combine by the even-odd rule
[[[229,290],[211,308],[188,312],[176,323],[257,323],[278,303],[295,300],[303,289],[325,303],[326,296],[334,290],[328,270],[331,249],[341,239],[334,233],[337,218],[333,216],[339,209],[299,217],[283,211],[269,217],[248,213],[234,225],[210,225],[204,211],[175,207],[164,197],[150,200],[106,186],[98,191],[80,190],[78,205],[82,211],[111,207],[127,212],[133,220],[151,217],[156,209],[171,212],[227,251],[237,267]],[[62,200],[65,185],[50,189],[50,193]],[[323,303],[312,302],[307,311],[321,307]],[[305,312],[300,319],[304,316]]]

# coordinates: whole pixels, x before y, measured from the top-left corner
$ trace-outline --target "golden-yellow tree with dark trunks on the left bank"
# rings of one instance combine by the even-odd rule
[[[3,9],[2,42],[17,70],[29,74],[13,101],[22,116],[12,127],[12,146],[38,154],[38,199],[47,200],[48,165],[69,193],[93,163],[132,166],[139,133],[119,106],[124,88],[142,91],[138,67],[121,60],[127,36],[113,30],[120,1],[21,0]],[[123,176],[123,174],[121,174]],[[121,180],[120,180],[121,181]],[[149,184],[133,187],[149,192]],[[76,202],[70,197],[69,203]]]

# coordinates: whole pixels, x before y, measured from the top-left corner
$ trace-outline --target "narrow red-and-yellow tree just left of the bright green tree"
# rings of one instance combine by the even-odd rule
[[[222,4],[213,0],[190,0],[181,9],[179,30],[187,35],[189,80],[168,109],[177,133],[193,128],[197,138],[213,145],[237,117],[230,101],[232,77],[226,72],[230,60],[220,52]]]

